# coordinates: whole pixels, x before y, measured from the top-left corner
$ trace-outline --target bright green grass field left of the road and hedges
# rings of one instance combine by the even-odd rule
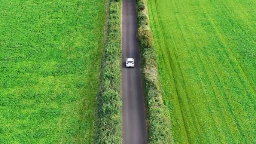
[[[0,143],[91,144],[106,0],[0,0]]]

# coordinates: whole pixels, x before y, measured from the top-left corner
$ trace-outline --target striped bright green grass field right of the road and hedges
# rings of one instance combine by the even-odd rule
[[[175,144],[256,144],[256,1],[149,0]]]

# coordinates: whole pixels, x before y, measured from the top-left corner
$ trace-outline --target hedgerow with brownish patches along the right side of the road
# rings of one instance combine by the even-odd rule
[[[137,0],[138,39],[143,61],[143,81],[146,92],[147,119],[150,144],[172,144],[169,111],[162,100],[159,84],[156,50],[153,45],[153,33],[149,29],[146,15],[147,0]]]

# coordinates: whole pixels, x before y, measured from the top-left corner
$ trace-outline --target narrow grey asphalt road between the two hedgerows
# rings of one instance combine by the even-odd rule
[[[123,0],[122,16],[122,120],[123,144],[147,144],[146,114],[137,35],[136,0]],[[125,59],[135,67],[126,68]]]

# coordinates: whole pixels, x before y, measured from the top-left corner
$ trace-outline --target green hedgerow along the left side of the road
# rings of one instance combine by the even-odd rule
[[[109,1],[107,43],[96,98],[94,144],[122,144],[121,1]]]

